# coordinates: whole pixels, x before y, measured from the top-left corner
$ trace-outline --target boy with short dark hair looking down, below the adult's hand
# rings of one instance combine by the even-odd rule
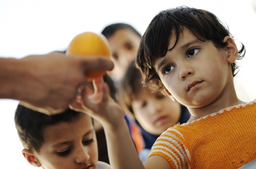
[[[93,119],[67,111],[48,116],[18,105],[15,125],[28,163],[44,169],[110,169],[98,161]]]

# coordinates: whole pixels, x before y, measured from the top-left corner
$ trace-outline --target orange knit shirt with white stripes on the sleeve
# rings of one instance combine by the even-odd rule
[[[148,157],[164,157],[172,169],[239,168],[256,159],[256,99],[170,127]]]

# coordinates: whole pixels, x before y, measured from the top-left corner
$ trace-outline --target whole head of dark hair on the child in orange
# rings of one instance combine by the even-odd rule
[[[159,12],[142,36],[136,57],[136,66],[142,73],[144,86],[155,90],[163,88],[163,83],[153,66],[154,62],[157,58],[164,57],[171,37],[176,36],[171,49],[176,46],[184,28],[201,41],[212,41],[216,48],[227,46],[227,42],[223,42],[225,36],[233,38],[228,27],[225,27],[220,19],[209,11],[180,6]],[[242,44],[237,59],[242,59],[244,54],[245,47]],[[231,65],[231,68],[234,77],[239,71],[236,62]]]

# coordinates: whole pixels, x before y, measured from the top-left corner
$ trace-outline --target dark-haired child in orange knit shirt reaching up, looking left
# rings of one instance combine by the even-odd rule
[[[238,51],[211,12],[189,7],[159,12],[142,37],[136,64],[145,85],[185,105],[191,118],[161,134],[142,164],[106,85],[98,85],[102,99],[90,97],[97,104],[83,91],[83,103],[92,110],[88,114],[105,129],[112,168],[236,169],[256,159],[256,100],[239,100],[233,81],[236,59],[244,53],[244,45]]]

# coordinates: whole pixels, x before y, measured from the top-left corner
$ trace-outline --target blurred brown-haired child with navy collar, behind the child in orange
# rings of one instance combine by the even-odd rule
[[[137,150],[142,162],[146,161],[154,142],[167,128],[186,123],[190,118],[185,106],[173,102],[163,92],[153,92],[143,87],[135,61],[124,74],[119,102],[140,127],[142,148],[137,147]]]

